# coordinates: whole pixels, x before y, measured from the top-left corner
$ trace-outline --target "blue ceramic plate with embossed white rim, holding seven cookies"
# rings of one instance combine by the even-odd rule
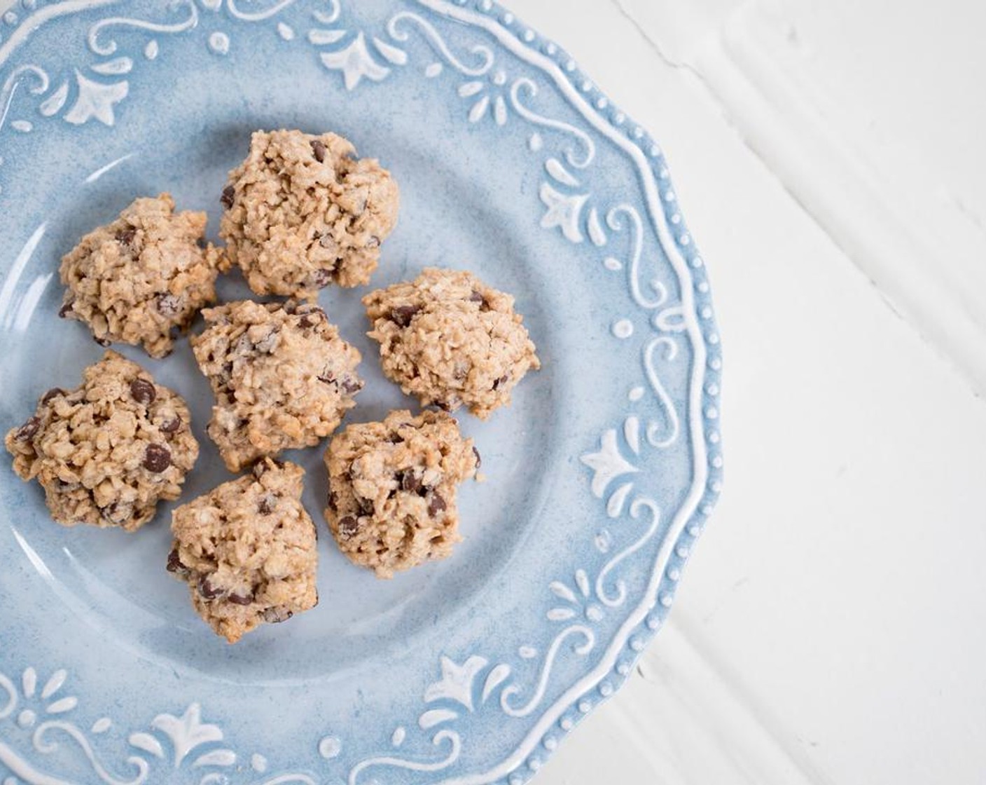
[[[600,42],[601,45],[601,42]],[[318,607],[228,646],[137,534],[48,518],[0,466],[0,782],[526,780],[661,627],[720,490],[719,339],[660,148],[570,57],[490,2],[20,0],[0,24],[0,426],[102,350],[56,317],[57,267],[135,196],[215,230],[255,128],[331,129],[400,183],[375,285],[430,265],[517,295],[544,367],[489,422],[453,558],[378,581],[319,542]],[[239,278],[225,298],[246,296]],[[359,303],[349,422],[412,406]],[[190,402],[184,500],[229,479],[187,342],[127,350]],[[321,519],[321,450],[309,470]],[[6,777],[6,778],[5,778]]]

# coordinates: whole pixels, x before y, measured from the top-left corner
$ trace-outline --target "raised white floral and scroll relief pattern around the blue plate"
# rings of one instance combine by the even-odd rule
[[[114,0],[81,0],[79,5],[92,9],[113,3]],[[225,3],[223,0],[198,0],[197,3],[178,0],[163,9],[159,19],[106,17],[89,28],[87,39],[90,51],[100,59],[86,68],[75,68],[60,79],[52,79],[37,65],[13,68],[0,87],[0,107],[9,107],[17,88],[24,85],[28,95],[35,100],[41,118],[61,118],[75,125],[95,120],[112,127],[117,121],[119,105],[130,95],[129,82],[121,77],[133,69],[133,57],[153,61],[160,54],[162,39],[196,33],[202,33],[215,54],[228,54],[236,45],[236,24],[271,21],[276,25],[276,35],[285,43],[303,39],[314,47],[321,65],[327,71],[339,74],[347,91],[382,82],[399,69],[417,68],[436,85],[451,82],[439,89],[455,91],[462,102],[463,121],[469,125],[491,122],[503,127],[513,120],[529,126],[528,148],[537,155],[542,173],[537,194],[543,209],[540,225],[546,231],[557,232],[566,242],[590,244],[599,250],[599,264],[611,275],[622,276],[636,312],[613,323],[611,333],[616,340],[627,341],[634,336],[634,318],[638,323],[643,318],[653,331],[641,345],[642,379],[628,392],[628,413],[621,423],[603,427],[598,446],[587,445],[586,452],[580,456],[581,463],[589,470],[587,491],[602,501],[606,518],[610,521],[624,519],[625,525],[621,523],[619,529],[623,533],[614,534],[615,528],[605,527],[592,534],[596,551],[606,557],[595,573],[579,567],[570,576],[556,576],[548,582],[545,605],[539,611],[541,618],[537,624],[546,622],[552,633],[549,643],[540,651],[529,643],[515,645],[514,651],[521,658],[519,663],[490,660],[481,653],[443,656],[437,666],[439,679],[430,683],[422,694],[420,713],[412,722],[394,728],[390,737],[391,750],[362,760],[344,761],[345,743],[336,736],[319,735],[313,744],[322,764],[329,766],[333,775],[344,777],[348,785],[371,782],[387,785],[393,772],[401,772],[401,776],[420,774],[425,778],[421,782],[435,782],[436,775],[448,777],[443,781],[450,783],[494,782],[506,777],[511,783],[520,782],[540,765],[540,758],[531,752],[537,742],[541,741],[550,751],[553,743],[549,744],[548,740],[554,739],[550,732],[557,729],[567,732],[580,715],[593,707],[597,698],[586,697],[588,693],[595,690],[593,694],[603,698],[611,694],[614,682],[622,680],[628,672],[627,658],[632,662],[633,655],[625,655],[624,650],[639,652],[646,637],[660,626],[662,612],[670,604],[673,584],[679,575],[677,568],[669,568],[669,563],[672,558],[683,561],[687,556],[688,546],[684,540],[698,534],[699,519],[711,511],[711,504],[719,493],[720,482],[715,479],[718,473],[710,473],[706,465],[718,467],[721,459],[717,456],[719,462],[716,463],[706,454],[708,434],[705,432],[703,402],[711,394],[704,384],[706,372],[709,368],[718,371],[720,365],[718,357],[710,359],[706,356],[706,337],[698,325],[689,271],[689,266],[693,270],[701,267],[701,258],[693,253],[690,260],[686,260],[684,250],[693,252],[689,248],[690,238],[686,233],[673,235],[670,227],[679,224],[680,215],[674,212],[669,222],[665,221],[665,202],[672,201],[673,195],[667,189],[662,192],[662,186],[657,182],[667,179],[663,167],[657,179],[653,176],[652,162],[658,159],[660,151],[656,146],[646,151],[640,146],[638,142],[644,137],[642,130],[637,128],[620,135],[616,126],[622,125],[625,117],[616,113],[610,116],[611,125],[603,135],[610,140],[618,135],[625,149],[630,149],[625,146],[629,144],[632,148],[629,154],[650,176],[650,180],[645,178],[650,213],[647,216],[629,202],[606,206],[596,201],[591,183],[597,141],[590,132],[579,127],[578,120],[548,117],[536,111],[538,94],[544,90],[544,84],[539,85],[527,74],[511,77],[506,67],[497,64],[495,49],[486,42],[477,40],[464,48],[454,48],[437,24],[452,18],[492,31],[501,43],[528,64],[542,59],[545,54],[559,60],[551,60],[550,68],[539,63],[537,67],[566,94],[568,103],[578,109],[575,114],[581,112],[585,117],[586,109],[580,102],[585,103],[582,94],[593,93],[591,83],[576,86],[570,77],[575,71],[574,63],[565,61],[553,44],[542,42],[542,48],[538,50],[533,45],[537,41],[529,31],[504,33],[504,25],[513,22],[511,15],[502,14],[500,22],[503,24],[500,24],[492,19],[498,12],[492,3],[479,3],[477,14],[462,8],[461,2],[418,0],[416,5],[421,7],[421,13],[401,10],[382,21],[377,29],[367,30],[345,19],[346,9],[339,0],[325,0],[315,4],[317,8],[309,16],[307,29],[300,28],[297,21],[293,25],[283,20],[275,21],[281,12],[300,4],[297,0],[259,4],[239,4],[236,0],[225,0]],[[57,8],[57,5],[46,8]],[[483,16],[484,13],[489,16]],[[226,29],[216,30],[213,26],[204,31],[199,24],[204,14],[223,19]],[[220,17],[220,14],[224,15]],[[434,15],[436,22],[425,14]],[[145,36],[137,51],[126,54],[118,51],[114,33],[122,29],[138,31]],[[16,42],[16,39],[10,39],[0,48],[0,69],[13,51],[11,40]],[[422,53],[428,55],[424,60],[420,59]],[[599,98],[595,107],[600,111],[607,108],[606,100]],[[595,112],[592,107],[589,111]],[[5,111],[0,115],[0,132],[5,130],[4,123],[9,114]],[[35,129],[35,123],[10,118],[9,127],[16,132],[28,133]],[[557,150],[551,149],[549,139],[558,141]],[[657,229],[656,239],[648,236],[648,218]],[[657,260],[661,254],[669,259],[677,274],[675,283],[680,299],[672,296],[674,286],[669,281],[656,273],[645,272],[645,269],[655,271],[659,268]],[[705,284],[702,288],[703,283],[700,281],[696,288],[707,294],[708,286]],[[688,348],[693,350],[696,370],[685,409],[679,411],[663,378],[669,363],[682,361],[681,355]],[[716,385],[712,386],[718,390]],[[647,403],[652,406],[645,406]],[[641,412],[645,409],[652,413],[656,409],[660,414],[644,416]],[[704,411],[708,412],[708,409]],[[638,486],[644,479],[645,451],[680,446],[686,429],[696,449],[694,460],[700,470],[696,470],[696,483],[682,508],[671,515],[668,510],[661,510],[652,498],[639,492]],[[709,439],[713,444],[718,443],[718,432],[714,433],[715,438]],[[640,605],[630,608],[630,592],[621,577],[621,567],[653,544],[663,529],[666,541],[662,542],[655,559],[654,575],[646,596]],[[626,532],[629,532],[628,536]],[[655,596],[658,610],[652,612],[648,599]],[[622,619],[623,616],[625,620],[617,640],[605,641],[606,651],[601,652],[603,630],[600,625],[613,617]],[[578,684],[547,706],[546,697],[558,687],[554,683],[555,670],[562,659],[582,660],[592,668]],[[44,756],[61,744],[74,746],[88,761],[92,772],[107,785],[173,781],[171,777],[176,770],[190,773],[189,781],[197,781],[200,785],[234,781],[314,785],[317,781],[303,771],[266,773],[267,759],[261,751],[226,746],[223,730],[218,725],[203,722],[202,709],[197,703],[190,704],[180,717],[160,714],[149,728],[131,732],[126,737],[127,756],[122,764],[110,770],[102,761],[94,740],[102,738],[111,729],[112,722],[109,718],[100,718],[88,732],[73,724],[70,716],[77,707],[77,700],[72,696],[58,697],[66,679],[67,672],[58,670],[38,693],[33,668],[27,667],[23,671],[20,685],[0,673],[0,723],[11,723],[23,732],[31,732],[33,749],[34,762],[29,760],[27,748],[18,750],[8,744],[10,736],[0,725],[0,764],[11,772],[8,778],[11,782],[41,785],[59,781],[39,766]],[[3,705],[4,693],[6,705]],[[32,701],[39,701],[36,707],[28,705]],[[462,738],[461,722],[467,716],[480,713],[490,715],[493,723],[530,717],[539,720],[529,731],[525,745],[499,765],[480,773],[456,772],[456,776],[461,775],[457,779],[454,766],[469,742]],[[421,739],[412,745],[409,734],[416,735],[418,731]],[[417,752],[394,752],[405,746],[413,746]],[[430,749],[431,753],[422,755],[422,749]],[[249,770],[246,770],[247,761]],[[7,781],[4,782],[6,785]]]

